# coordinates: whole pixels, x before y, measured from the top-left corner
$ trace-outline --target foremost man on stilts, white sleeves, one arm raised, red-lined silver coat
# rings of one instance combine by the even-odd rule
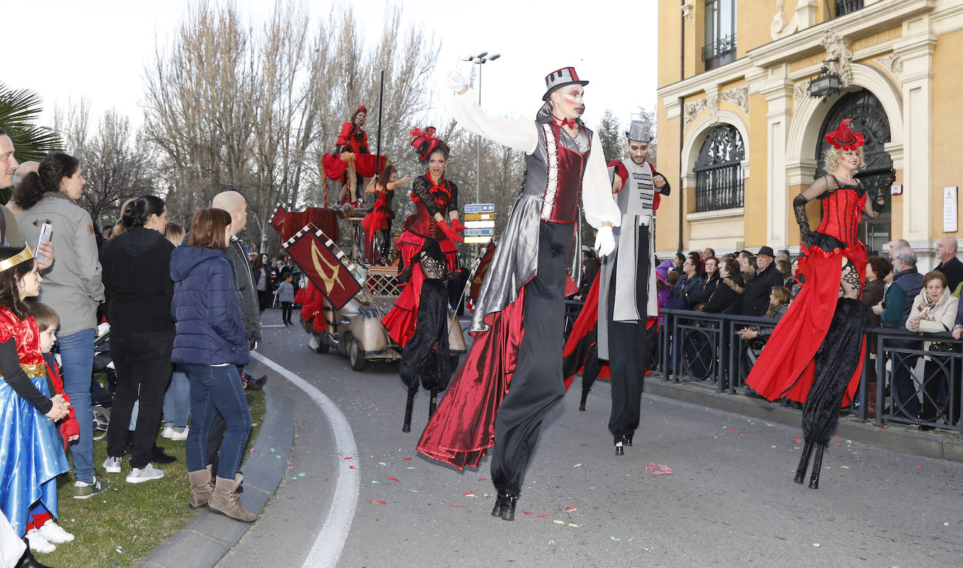
[[[507,521],[514,520],[542,419],[564,394],[562,322],[566,288],[574,293],[580,275],[580,194],[586,219],[598,228],[600,254],[612,252],[612,225],[621,222],[601,143],[580,119],[587,81],[562,67],[545,83],[534,121],[486,115],[457,73],[445,83],[457,93],[458,125],[525,152],[526,175],[481,285],[470,329],[475,342],[418,451],[463,468],[477,466],[494,445],[498,499],[491,513]]]

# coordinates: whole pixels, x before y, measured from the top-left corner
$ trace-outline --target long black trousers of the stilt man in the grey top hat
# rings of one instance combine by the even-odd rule
[[[645,364],[650,357],[648,334],[646,333],[646,307],[648,306],[649,228],[638,227],[637,258],[615,257],[613,271],[619,262],[635,263],[636,305],[640,320],[637,322],[612,321],[615,309],[615,291],[619,287],[616,279],[609,287],[609,371],[612,374],[612,414],[609,415],[609,431],[615,436],[634,432],[638,427],[641,412],[642,383],[645,381]],[[626,284],[621,284],[625,286]]]

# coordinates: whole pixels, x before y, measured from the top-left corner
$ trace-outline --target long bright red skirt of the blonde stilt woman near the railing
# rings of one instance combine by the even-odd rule
[[[798,271],[804,285],[790,304],[766,343],[745,384],[768,400],[785,398],[805,402],[815,378],[814,359],[829,331],[839,297],[843,258],[852,261],[861,281],[866,279],[866,247],[862,243],[825,251],[819,246],[803,248]],[[843,397],[843,406],[852,401],[859,387],[859,376],[866,356],[866,342],[860,364]]]

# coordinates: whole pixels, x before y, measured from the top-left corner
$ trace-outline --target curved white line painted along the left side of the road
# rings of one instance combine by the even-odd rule
[[[318,533],[311,552],[304,560],[305,567],[334,566],[338,563],[345,541],[348,539],[348,531],[351,530],[351,521],[354,519],[354,511],[357,508],[358,489],[361,484],[361,464],[358,463],[357,444],[354,442],[351,425],[332,400],[299,375],[256,351],[251,352],[251,356],[284,376],[314,400],[325,413],[325,418],[331,425],[331,431],[334,432],[334,445],[338,456],[338,479],[334,487],[334,497],[331,500],[331,508],[327,510],[325,525]],[[348,457],[352,459],[345,459]],[[346,462],[350,462],[354,469],[350,469]]]

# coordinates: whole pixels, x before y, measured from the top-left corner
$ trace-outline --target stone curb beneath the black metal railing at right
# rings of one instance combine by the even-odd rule
[[[708,406],[783,426],[799,427],[802,420],[800,411],[794,408],[745,395],[717,393],[714,388],[710,389],[691,381],[675,383],[657,377],[645,382],[645,392],[664,399]],[[958,434],[952,432],[923,433],[895,424],[876,426],[843,415],[840,417],[836,434],[847,440],[856,440],[892,452],[963,462],[963,441]]]

